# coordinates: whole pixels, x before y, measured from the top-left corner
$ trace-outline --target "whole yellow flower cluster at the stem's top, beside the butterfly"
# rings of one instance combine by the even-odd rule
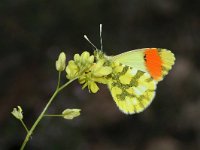
[[[78,78],[79,83],[83,84],[82,89],[88,87],[89,91],[96,93],[99,90],[96,83],[106,84],[112,68],[105,65],[104,59],[94,60],[94,55],[85,51],[81,55],[74,55],[74,60],[69,61],[66,72],[69,80]]]

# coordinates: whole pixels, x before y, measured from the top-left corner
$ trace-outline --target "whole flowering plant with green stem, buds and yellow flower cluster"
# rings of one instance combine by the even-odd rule
[[[61,114],[46,114],[48,108],[50,107],[51,103],[58,93],[60,93],[65,87],[67,87],[71,82],[76,79],[78,79],[80,84],[83,84],[82,89],[88,87],[90,92],[96,93],[99,90],[96,82],[106,84],[106,76],[112,72],[111,67],[105,66],[104,60],[95,61],[94,55],[90,55],[90,53],[87,51],[83,52],[81,55],[75,54],[74,60],[70,60],[67,65],[65,53],[60,53],[58,60],[56,61],[56,70],[58,71],[58,83],[56,90],[30,129],[23,121],[23,110],[21,106],[17,106],[17,108],[14,108],[11,112],[16,119],[20,120],[27,132],[24,142],[22,143],[21,150],[24,149],[33,131],[35,130],[41,119],[43,119],[43,117],[48,116],[73,119],[80,115],[80,109],[65,109]],[[66,71],[66,78],[68,79],[68,82],[61,85],[61,73],[64,71]]]

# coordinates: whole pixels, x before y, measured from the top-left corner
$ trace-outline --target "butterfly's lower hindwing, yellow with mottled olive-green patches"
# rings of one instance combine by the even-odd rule
[[[152,102],[156,83],[146,72],[115,63],[108,87],[119,109],[126,114],[134,114],[143,111]]]

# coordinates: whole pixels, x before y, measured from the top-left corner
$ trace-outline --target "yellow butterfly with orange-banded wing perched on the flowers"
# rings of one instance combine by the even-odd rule
[[[125,114],[144,111],[152,102],[157,83],[163,80],[175,62],[174,54],[162,48],[142,48],[107,56],[97,51],[98,59],[112,66],[108,78],[111,95]]]

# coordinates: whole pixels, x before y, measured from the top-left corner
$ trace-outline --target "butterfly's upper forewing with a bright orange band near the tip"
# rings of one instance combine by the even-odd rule
[[[136,49],[107,57],[111,61],[148,72],[156,81],[161,81],[175,62],[174,54],[170,50],[160,48]]]

